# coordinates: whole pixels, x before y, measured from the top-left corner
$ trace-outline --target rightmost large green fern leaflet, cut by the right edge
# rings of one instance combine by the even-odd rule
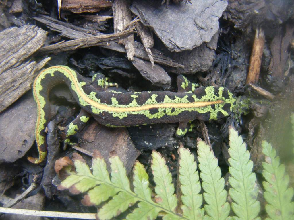
[[[265,189],[264,198],[268,204],[265,210],[270,218],[268,219],[294,219],[293,188],[289,185],[289,176],[285,175],[285,166],[280,165],[280,158],[276,157],[276,151],[270,143],[262,142],[262,152],[265,155],[263,166],[263,182]]]

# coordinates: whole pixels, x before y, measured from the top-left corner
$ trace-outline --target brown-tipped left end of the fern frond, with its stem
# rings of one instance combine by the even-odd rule
[[[141,163],[137,161],[134,166],[133,192],[119,157],[111,155],[109,161],[111,163],[111,178],[109,178],[106,163],[98,151],[93,155],[93,174],[83,158],[74,154],[76,173],[70,172],[69,176],[61,182],[60,188],[71,188],[76,193],[86,192],[90,189],[82,201],[86,205],[99,205],[112,197],[98,210],[97,216],[101,220],[112,219],[136,202],[138,202],[138,207],[128,214],[126,219],[152,220],[156,219],[160,211],[163,211],[163,219],[188,220],[185,216],[174,212],[177,198],[171,183],[171,173],[159,153],[154,151],[152,160],[154,180],[159,186],[155,190],[157,203],[151,199],[148,175]]]

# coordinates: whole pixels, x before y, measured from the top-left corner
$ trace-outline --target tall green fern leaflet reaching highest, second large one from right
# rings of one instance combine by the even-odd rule
[[[231,207],[239,219],[255,219],[260,211],[257,201],[258,187],[255,184],[256,176],[252,172],[253,162],[246,144],[234,128],[229,128],[229,189],[230,197],[234,200]]]

